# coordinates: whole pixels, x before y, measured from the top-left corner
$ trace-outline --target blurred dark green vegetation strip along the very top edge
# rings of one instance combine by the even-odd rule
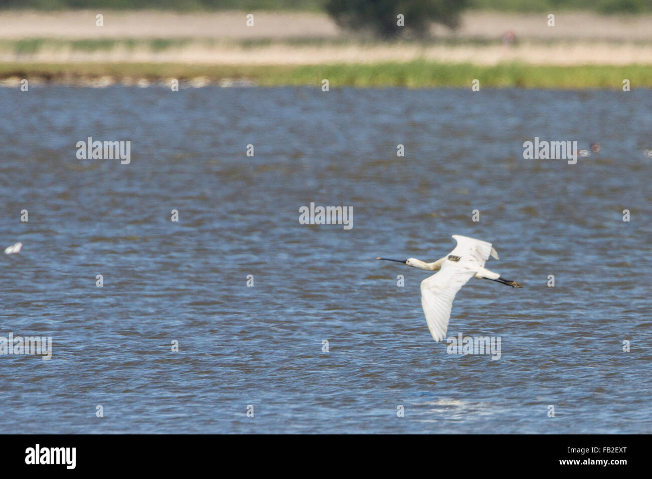
[[[326,0],[0,0],[1,9],[70,10],[103,8],[105,10],[304,10],[324,12]],[[383,0],[353,1],[355,4],[381,4]],[[503,12],[557,12],[587,10],[604,14],[652,12],[652,0],[456,0],[395,1],[396,5],[420,4],[432,8],[432,4],[447,4],[454,8],[466,3],[467,8],[499,10]]]

